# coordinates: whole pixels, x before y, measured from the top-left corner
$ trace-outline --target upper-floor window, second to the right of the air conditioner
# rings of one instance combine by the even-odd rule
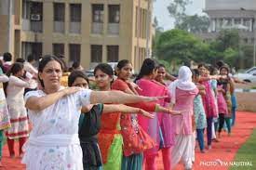
[[[70,33],[81,33],[81,4],[70,5]]]

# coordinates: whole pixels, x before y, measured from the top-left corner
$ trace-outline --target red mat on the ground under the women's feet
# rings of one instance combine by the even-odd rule
[[[226,133],[222,133],[222,138],[219,143],[212,143],[212,149],[207,153],[200,153],[198,147],[195,149],[195,170],[227,170],[229,166],[225,166],[223,162],[231,162],[236,156],[236,151],[241,145],[246,142],[252,133],[253,128],[256,128],[256,113],[250,112],[237,112],[236,126],[232,129],[232,136],[228,137]],[[206,140],[205,140],[206,141]],[[197,145],[197,143],[196,143]],[[18,143],[16,143],[16,152],[18,153]],[[20,163],[19,158],[10,159],[8,157],[7,145],[4,147],[4,155],[1,170],[24,170],[25,166]],[[163,163],[161,153],[157,160],[158,170],[163,170]],[[222,164],[222,165],[221,165]],[[180,163],[175,170],[183,169]]]

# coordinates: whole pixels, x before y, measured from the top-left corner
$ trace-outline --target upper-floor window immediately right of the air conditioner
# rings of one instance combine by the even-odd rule
[[[64,3],[54,3],[54,32],[64,33],[65,32],[65,4]]]

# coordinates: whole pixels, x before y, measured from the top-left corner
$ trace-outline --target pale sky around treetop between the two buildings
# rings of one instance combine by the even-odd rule
[[[163,27],[164,30],[169,30],[174,27],[174,20],[168,14],[168,4],[172,0],[156,0],[154,3],[154,15],[158,20],[159,26]],[[186,13],[188,15],[203,15],[203,8],[205,7],[205,0],[193,0],[193,4],[187,7]]]

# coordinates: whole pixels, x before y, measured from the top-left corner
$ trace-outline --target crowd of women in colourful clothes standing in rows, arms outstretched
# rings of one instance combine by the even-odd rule
[[[120,60],[115,71],[101,63],[94,69],[97,90],[90,90],[81,67],[64,73],[55,56],[43,57],[38,69],[32,56],[11,60],[5,53],[0,69],[0,160],[6,132],[10,157],[19,138],[29,170],[156,170],[159,152],[165,170],[181,161],[192,169],[195,139],[206,153],[235,124],[234,79],[222,62],[182,66],[175,78],[145,59],[135,80],[130,61]]]

